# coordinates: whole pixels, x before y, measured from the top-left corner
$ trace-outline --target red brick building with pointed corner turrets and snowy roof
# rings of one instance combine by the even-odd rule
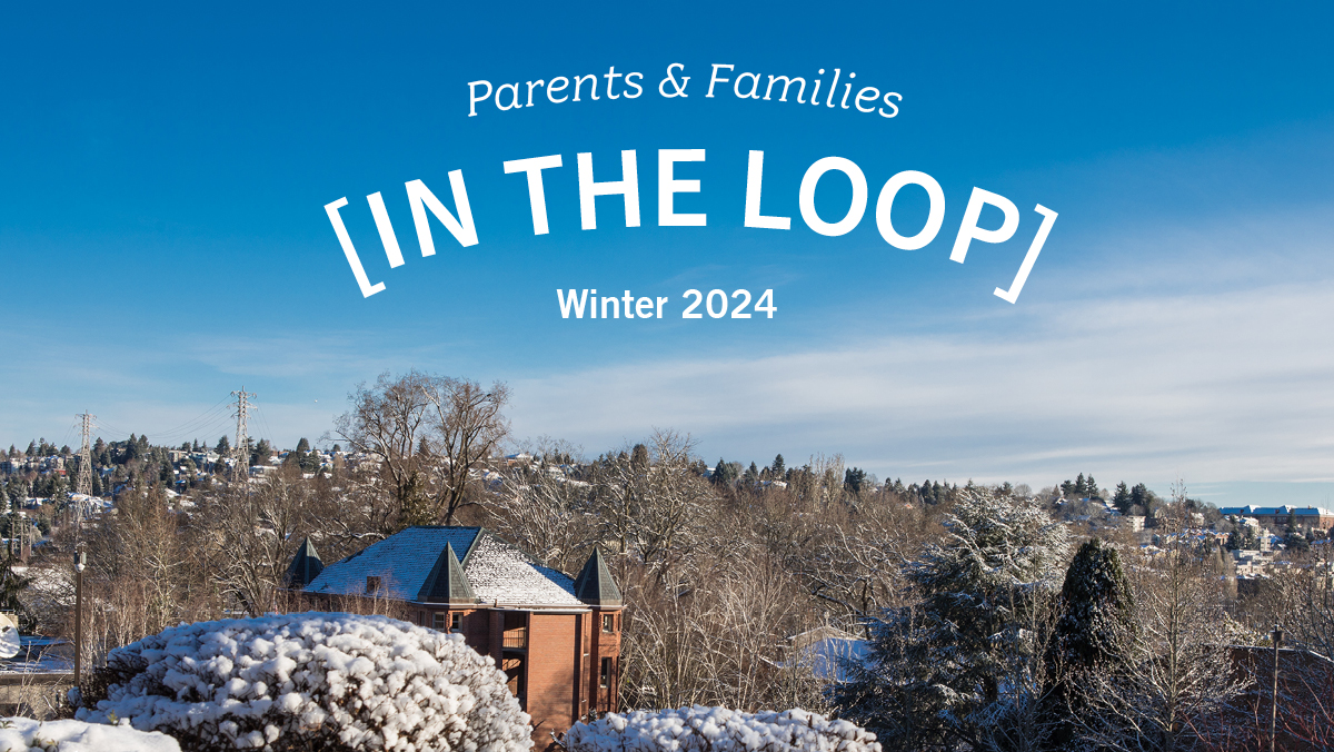
[[[416,624],[463,634],[510,677],[536,749],[618,709],[620,590],[598,550],[571,578],[484,528],[408,528],[328,566],[305,541],[288,581],[329,602],[399,601]]]

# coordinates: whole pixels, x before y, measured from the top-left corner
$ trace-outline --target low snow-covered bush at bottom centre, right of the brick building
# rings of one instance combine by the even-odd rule
[[[610,713],[566,733],[568,752],[880,752],[875,735],[800,708],[743,713],[680,708]]]

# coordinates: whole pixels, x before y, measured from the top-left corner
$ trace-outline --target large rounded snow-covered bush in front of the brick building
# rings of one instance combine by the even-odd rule
[[[112,650],[99,679],[80,720],[128,720],[199,752],[532,745],[528,715],[490,657],[459,634],[383,616],[183,624]]]

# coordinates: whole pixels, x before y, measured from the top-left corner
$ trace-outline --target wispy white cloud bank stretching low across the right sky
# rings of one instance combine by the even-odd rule
[[[1334,283],[1217,271],[1189,295],[1082,290],[858,346],[524,379],[515,422],[590,447],[674,426],[710,455],[840,451],[882,476],[1334,478]]]

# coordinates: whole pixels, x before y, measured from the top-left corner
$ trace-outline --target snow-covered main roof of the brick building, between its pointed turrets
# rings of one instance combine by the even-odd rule
[[[418,601],[446,545],[460,554],[478,600],[487,604],[582,608],[574,580],[483,528],[408,528],[331,564],[304,589],[308,593],[364,596],[367,577],[379,577],[386,596]]]

